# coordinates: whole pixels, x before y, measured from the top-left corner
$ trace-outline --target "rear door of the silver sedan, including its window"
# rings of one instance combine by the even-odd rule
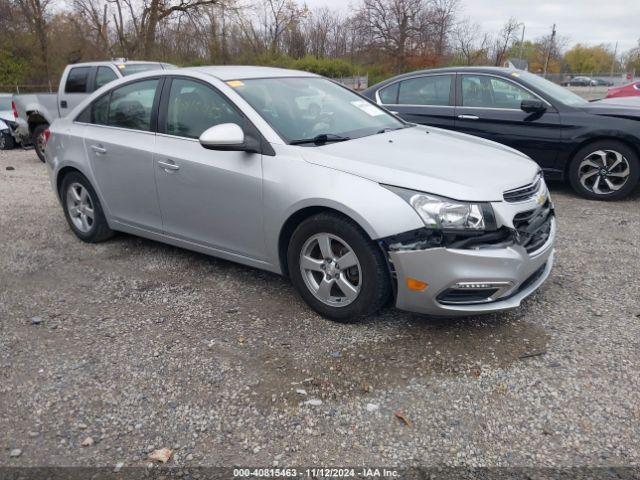
[[[153,148],[158,78],[127,83],[96,99],[81,117],[86,154],[110,216],[125,225],[160,233],[162,220]]]

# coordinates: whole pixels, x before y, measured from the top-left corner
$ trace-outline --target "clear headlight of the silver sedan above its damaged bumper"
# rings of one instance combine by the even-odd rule
[[[428,228],[439,230],[495,230],[493,209],[488,203],[459,202],[428,193],[385,186],[404,198]]]

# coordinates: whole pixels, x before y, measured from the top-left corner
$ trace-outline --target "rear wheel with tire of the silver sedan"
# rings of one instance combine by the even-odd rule
[[[113,236],[95,190],[80,172],[65,175],[60,198],[67,222],[80,240],[98,243]]]

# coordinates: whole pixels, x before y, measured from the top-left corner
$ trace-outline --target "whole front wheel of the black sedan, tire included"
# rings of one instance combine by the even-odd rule
[[[581,148],[569,166],[569,181],[576,192],[593,200],[624,198],[638,184],[637,153],[623,143],[603,140]]]

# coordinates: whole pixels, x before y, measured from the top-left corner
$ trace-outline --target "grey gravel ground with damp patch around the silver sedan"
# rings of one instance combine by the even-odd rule
[[[338,325],[269,273],[82,243],[33,151],[0,152],[0,465],[637,466],[640,194],[552,195],[517,311]]]

